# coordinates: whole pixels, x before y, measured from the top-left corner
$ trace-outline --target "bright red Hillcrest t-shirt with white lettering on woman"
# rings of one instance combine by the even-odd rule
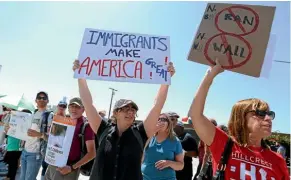
[[[214,140],[210,146],[213,157],[213,171],[217,170],[228,136],[216,128]],[[251,150],[249,150],[251,149]],[[290,180],[287,165],[277,153],[263,148],[242,147],[233,144],[231,155],[225,170],[225,179],[229,180]]]

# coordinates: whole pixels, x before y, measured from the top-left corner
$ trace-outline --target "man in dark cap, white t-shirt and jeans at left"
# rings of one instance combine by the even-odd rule
[[[35,180],[45,156],[47,144],[47,128],[52,122],[53,113],[47,111],[48,94],[44,91],[37,93],[35,102],[37,110],[32,116],[31,128],[27,135],[31,137],[25,142],[21,155],[20,180]]]

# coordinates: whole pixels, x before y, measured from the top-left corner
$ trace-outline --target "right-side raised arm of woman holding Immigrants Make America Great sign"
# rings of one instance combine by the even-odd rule
[[[175,68],[173,66],[173,63],[171,62],[170,62],[170,65],[168,66],[168,72],[170,72],[171,77],[175,74]],[[156,129],[155,126],[158,122],[158,118],[161,114],[161,111],[167,99],[168,89],[169,89],[169,85],[162,84],[160,86],[157,97],[155,99],[154,106],[150,110],[148,116],[146,117],[144,121],[144,128],[145,128],[148,138],[152,137],[155,133],[155,129]]]

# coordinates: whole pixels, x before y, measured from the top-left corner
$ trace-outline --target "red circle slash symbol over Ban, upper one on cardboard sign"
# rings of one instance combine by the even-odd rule
[[[241,22],[239,20],[236,20],[236,15],[233,13],[233,9],[244,9],[247,11],[250,11],[254,16],[255,16],[255,24],[253,29],[251,29],[249,32],[247,32],[245,30],[245,28],[243,27],[243,25],[241,24]],[[229,14],[231,14],[231,16],[234,18],[234,21],[236,22],[236,24],[239,26],[239,28],[242,30],[243,33],[239,34],[239,33],[235,33],[235,32],[226,32],[225,30],[223,30],[222,28],[219,27],[219,16],[224,12],[224,11],[228,11]],[[246,36],[248,34],[251,34],[253,32],[255,32],[258,29],[259,26],[259,15],[251,8],[249,7],[245,7],[245,6],[230,6],[228,8],[225,8],[223,10],[221,10],[220,12],[217,13],[217,15],[215,16],[215,27],[218,31],[222,32],[222,33],[227,33],[227,34],[235,34],[235,35],[239,35],[239,36]]]

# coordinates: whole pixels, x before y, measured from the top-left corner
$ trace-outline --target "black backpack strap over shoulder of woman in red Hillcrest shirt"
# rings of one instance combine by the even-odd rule
[[[213,176],[213,180],[224,179],[224,171],[226,169],[227,161],[229,159],[232,146],[233,146],[233,141],[231,137],[228,137],[228,140],[224,147],[224,151],[221,155],[221,159],[219,161],[219,164],[217,165],[217,171],[215,175]]]

